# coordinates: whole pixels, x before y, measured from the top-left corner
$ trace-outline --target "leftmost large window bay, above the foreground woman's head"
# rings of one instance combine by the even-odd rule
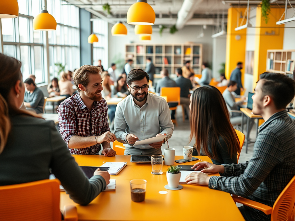
[[[19,17],[1,19],[3,52],[22,62],[23,79],[36,75],[45,83],[43,33],[33,30],[33,16],[41,11],[41,0],[19,0]]]

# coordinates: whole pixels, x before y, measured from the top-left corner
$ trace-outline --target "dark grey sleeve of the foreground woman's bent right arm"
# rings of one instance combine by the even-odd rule
[[[89,204],[101,191],[106,188],[106,182],[101,176],[88,179],[68,151],[67,145],[55,129],[52,122],[50,129],[52,159],[50,168],[61,185],[65,188],[74,202],[82,205]]]

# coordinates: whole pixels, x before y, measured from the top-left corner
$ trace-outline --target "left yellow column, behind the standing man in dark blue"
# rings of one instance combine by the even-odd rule
[[[246,24],[243,16],[247,8],[229,8],[227,14],[227,37],[226,37],[226,59],[225,76],[230,79],[230,74],[237,66],[237,62],[245,63],[246,33],[247,29],[235,31],[237,26]],[[242,24],[241,24],[242,22]],[[244,71],[242,72],[242,83],[244,82]]]

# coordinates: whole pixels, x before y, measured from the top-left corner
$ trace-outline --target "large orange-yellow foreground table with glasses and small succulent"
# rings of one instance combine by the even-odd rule
[[[183,189],[166,190],[166,169],[162,175],[151,174],[151,164],[130,162],[130,156],[104,157],[99,155],[73,155],[80,166],[101,166],[105,161],[127,162],[117,175],[116,191],[101,192],[88,206],[74,203],[65,192],[60,193],[60,208],[76,205],[79,220],[131,220],[131,221],[179,221],[179,220],[244,220],[229,193],[199,185],[183,185]],[[176,156],[182,159],[183,156]],[[211,161],[207,156],[200,159]],[[185,163],[193,165],[198,161]],[[219,176],[219,174],[214,174]],[[131,201],[130,180],[146,179],[145,201]],[[165,190],[168,194],[159,194]]]

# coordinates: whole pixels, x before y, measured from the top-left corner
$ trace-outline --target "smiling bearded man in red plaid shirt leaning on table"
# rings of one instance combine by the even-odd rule
[[[101,68],[84,65],[73,80],[78,93],[58,107],[59,130],[71,154],[98,154],[102,146],[104,156],[116,155],[110,148],[116,137],[107,121],[108,105],[101,96]]]

